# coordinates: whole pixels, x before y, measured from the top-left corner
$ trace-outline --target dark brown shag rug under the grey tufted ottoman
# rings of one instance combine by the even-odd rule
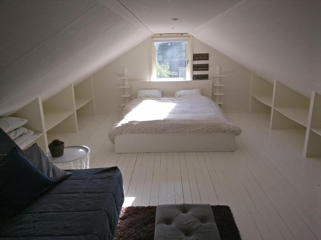
[[[241,240],[230,207],[211,206],[221,240]],[[122,208],[114,240],[153,240],[156,206]]]

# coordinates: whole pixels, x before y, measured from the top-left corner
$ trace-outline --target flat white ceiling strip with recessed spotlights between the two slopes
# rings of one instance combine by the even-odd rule
[[[239,1],[119,0],[154,34],[188,33]]]

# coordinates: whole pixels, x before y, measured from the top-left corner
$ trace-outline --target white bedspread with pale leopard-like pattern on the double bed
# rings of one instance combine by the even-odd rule
[[[242,130],[208,97],[140,98],[125,106],[108,138],[115,144],[114,138],[123,134],[181,132],[233,132],[238,136]]]

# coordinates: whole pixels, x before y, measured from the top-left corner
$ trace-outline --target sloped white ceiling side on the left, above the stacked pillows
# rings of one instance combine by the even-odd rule
[[[46,99],[152,33],[118,1],[0,3],[0,115]]]

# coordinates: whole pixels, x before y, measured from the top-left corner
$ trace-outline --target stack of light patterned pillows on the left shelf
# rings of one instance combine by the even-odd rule
[[[0,128],[19,146],[25,148],[37,138],[33,131],[22,127],[28,122],[27,119],[19,117],[0,117]]]

